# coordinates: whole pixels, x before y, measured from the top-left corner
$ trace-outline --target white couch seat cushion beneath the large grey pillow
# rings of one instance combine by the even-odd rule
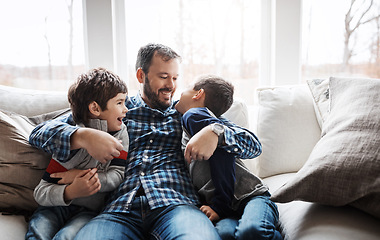
[[[274,192],[295,174],[279,174],[263,181]],[[280,229],[285,239],[377,240],[380,237],[380,220],[353,207],[332,207],[303,201],[277,203],[277,206]]]

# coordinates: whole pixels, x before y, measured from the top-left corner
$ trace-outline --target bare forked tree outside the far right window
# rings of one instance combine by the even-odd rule
[[[357,4],[355,4],[357,3]],[[352,46],[354,33],[363,25],[378,20],[380,13],[372,14],[371,8],[373,0],[363,0],[358,2],[357,0],[351,0],[350,7],[345,17],[345,33],[344,33],[344,52],[342,70],[347,71],[350,60],[354,55],[354,47]]]

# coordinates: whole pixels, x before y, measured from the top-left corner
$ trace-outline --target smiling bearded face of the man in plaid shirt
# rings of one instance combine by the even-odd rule
[[[151,108],[166,109],[171,106],[177,88],[179,60],[164,61],[156,54],[148,74],[144,74],[142,98]]]

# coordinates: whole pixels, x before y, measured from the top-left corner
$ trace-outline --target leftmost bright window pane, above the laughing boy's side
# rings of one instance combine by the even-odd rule
[[[0,84],[67,90],[85,68],[81,4],[80,0],[2,4]]]

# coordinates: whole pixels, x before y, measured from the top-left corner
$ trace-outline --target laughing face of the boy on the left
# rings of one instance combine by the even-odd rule
[[[108,132],[119,131],[123,118],[128,112],[125,106],[126,93],[119,93],[107,102],[107,110],[100,110],[99,118],[107,120]]]

